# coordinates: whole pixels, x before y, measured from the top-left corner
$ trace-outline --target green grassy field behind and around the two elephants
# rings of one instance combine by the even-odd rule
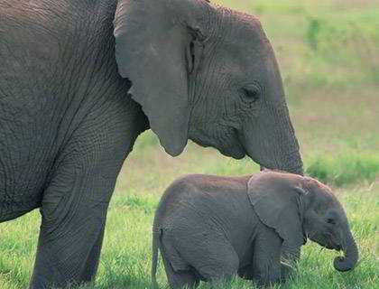
[[[379,288],[379,1],[218,0],[259,15],[282,68],[291,117],[307,172],[342,200],[360,250],[353,272],[338,273],[336,252],[303,247],[298,274],[284,288]],[[142,135],[116,184],[108,213],[97,289],[148,288],[153,212],[162,191],[189,172],[257,172],[189,144],[180,157]],[[0,226],[0,288],[28,284],[38,236],[37,211]],[[159,282],[166,278],[162,267]],[[224,288],[253,288],[239,279]],[[208,288],[202,284],[201,288]]]

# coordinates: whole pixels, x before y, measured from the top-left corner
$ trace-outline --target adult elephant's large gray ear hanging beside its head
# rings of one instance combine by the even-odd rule
[[[192,64],[186,55],[200,53],[193,45],[204,36],[204,7],[199,2],[119,0],[116,8],[119,73],[132,81],[132,97],[171,155],[180,154],[188,140],[188,67]],[[194,57],[200,55],[189,55],[189,61]]]

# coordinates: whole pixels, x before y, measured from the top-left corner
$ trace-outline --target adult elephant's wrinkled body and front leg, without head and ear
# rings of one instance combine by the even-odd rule
[[[148,128],[117,72],[113,2],[0,3],[0,221],[41,208],[31,288],[93,279],[116,176]]]

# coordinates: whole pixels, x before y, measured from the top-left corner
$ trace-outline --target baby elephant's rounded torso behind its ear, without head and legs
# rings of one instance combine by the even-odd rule
[[[236,260],[241,260],[239,267],[250,263],[246,256],[260,222],[254,214],[241,214],[251,210],[246,194],[248,179],[193,175],[172,184],[157,211],[154,232],[162,235],[163,254],[174,271],[202,267],[201,262],[205,267],[210,259],[216,261],[210,256],[219,256],[220,246],[225,249],[218,260],[220,266],[209,270],[225,270],[224,264],[235,269]],[[204,259],[199,259],[199,249]],[[227,254],[228,250],[233,254]],[[201,273],[206,279],[214,275]]]

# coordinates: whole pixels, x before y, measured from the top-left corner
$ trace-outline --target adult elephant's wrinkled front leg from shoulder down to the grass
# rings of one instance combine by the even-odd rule
[[[80,124],[52,170],[32,289],[87,283],[96,275],[116,176],[139,132],[134,114],[107,108],[112,113],[101,110]]]

